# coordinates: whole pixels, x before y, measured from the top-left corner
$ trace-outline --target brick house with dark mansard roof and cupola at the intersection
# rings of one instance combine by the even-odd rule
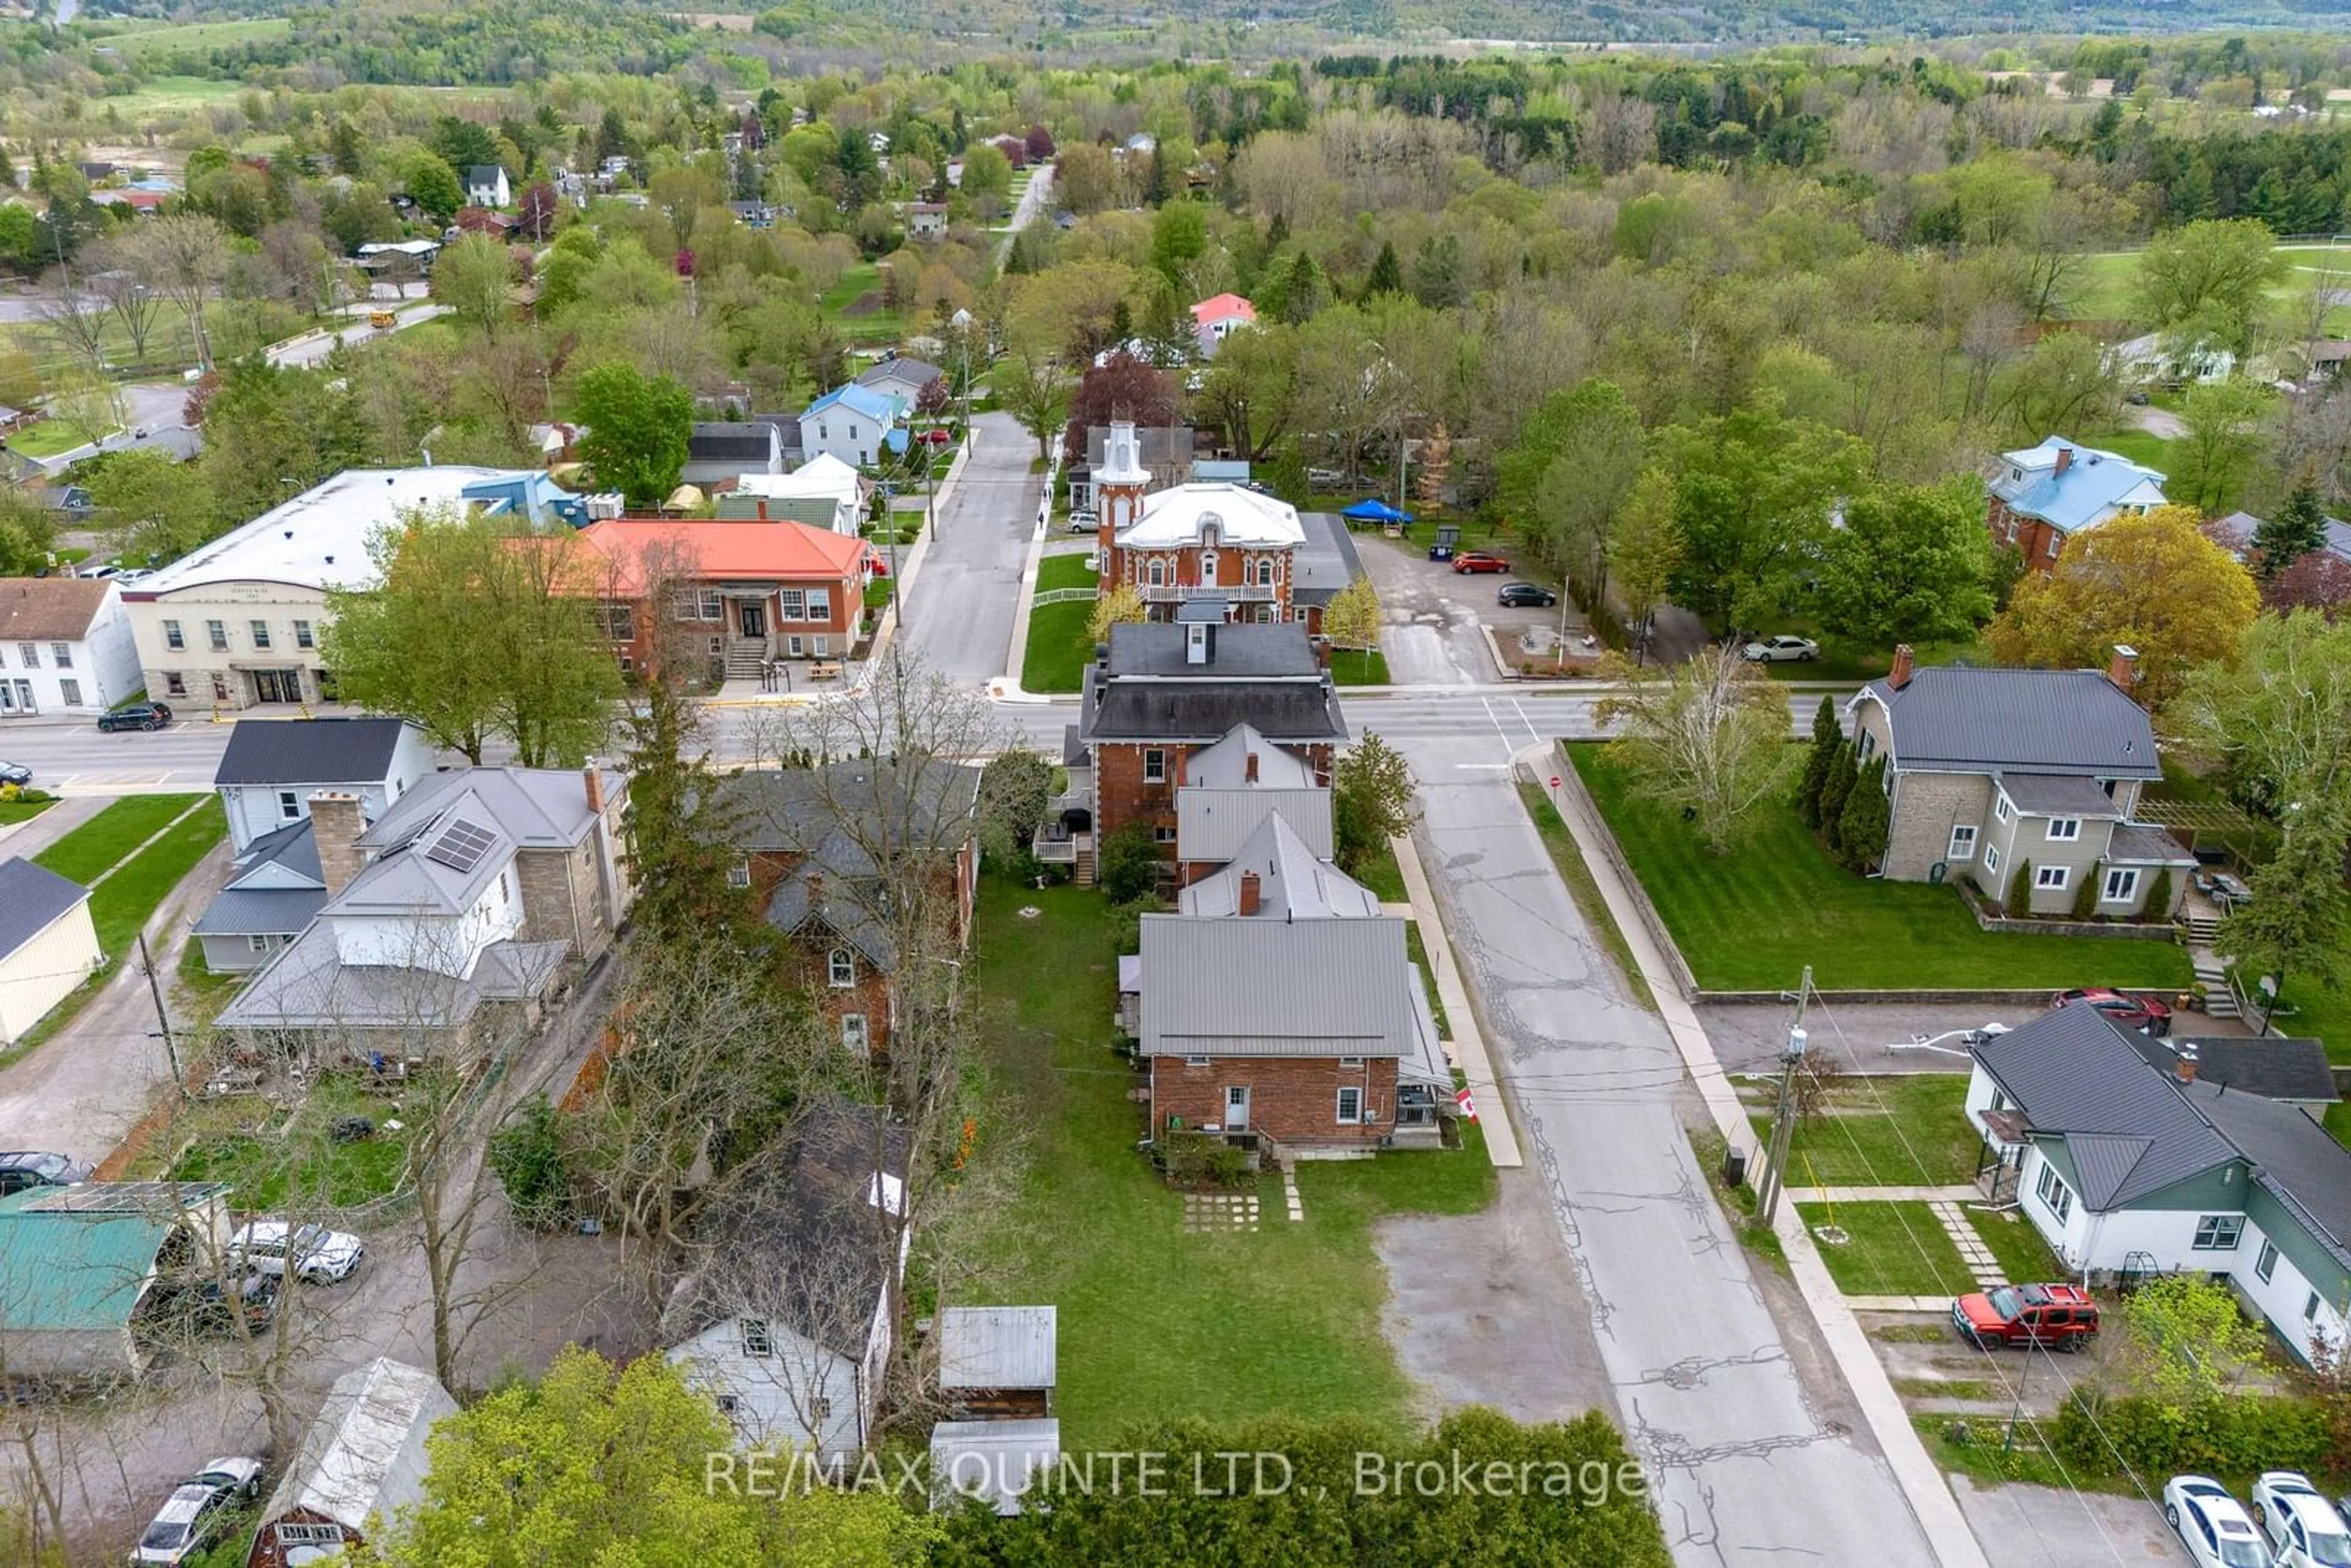
[[[1197,614],[1110,628],[1107,651],[1086,670],[1072,755],[1081,748],[1091,771],[1072,769],[1072,788],[1093,802],[1105,835],[1143,823],[1173,849],[1192,757],[1241,724],[1262,741],[1260,773],[1281,750],[1317,788],[1331,783],[1347,719],[1305,628],[1225,625],[1213,607]]]

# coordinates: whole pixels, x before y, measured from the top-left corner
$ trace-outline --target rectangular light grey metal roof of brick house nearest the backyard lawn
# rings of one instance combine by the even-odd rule
[[[1143,917],[1145,1056],[1404,1056],[1404,922]]]

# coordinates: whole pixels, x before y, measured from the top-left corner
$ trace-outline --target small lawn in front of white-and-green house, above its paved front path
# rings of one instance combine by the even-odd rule
[[[1975,1178],[1982,1138],[1968,1126],[1968,1079],[1925,1072],[1846,1079],[1829,1114],[1799,1121],[1789,1187],[1947,1187]],[[1761,1135],[1770,1117],[1754,1117]]]

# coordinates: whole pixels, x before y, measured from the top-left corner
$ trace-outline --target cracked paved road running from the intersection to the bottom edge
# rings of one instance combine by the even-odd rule
[[[1556,726],[1415,717],[1392,738],[1425,853],[1674,1561],[1933,1563],[1883,1458],[1815,1415],[1683,1138],[1681,1058],[1615,990],[1512,792],[1512,750]]]

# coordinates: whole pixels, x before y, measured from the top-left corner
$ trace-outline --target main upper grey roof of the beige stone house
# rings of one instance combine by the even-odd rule
[[[1928,665],[1853,701],[1886,705],[1897,769],[2163,776],[2146,710],[2097,670]]]

